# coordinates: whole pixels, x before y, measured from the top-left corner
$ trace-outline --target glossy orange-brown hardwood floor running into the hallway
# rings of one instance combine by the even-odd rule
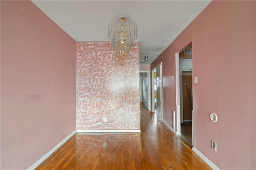
[[[211,169],[141,103],[141,133],[77,133],[36,169]]]

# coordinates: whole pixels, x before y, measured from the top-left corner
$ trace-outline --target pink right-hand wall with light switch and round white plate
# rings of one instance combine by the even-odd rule
[[[163,118],[172,126],[175,53],[192,42],[194,146],[220,169],[256,169],[255,15],[256,1],[212,1],[151,65],[163,62]]]

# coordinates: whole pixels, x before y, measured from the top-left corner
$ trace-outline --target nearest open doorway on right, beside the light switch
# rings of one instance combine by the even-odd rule
[[[181,137],[193,146],[192,44],[187,45],[178,55],[180,75],[177,82],[180,93],[177,95],[180,99],[180,132]]]

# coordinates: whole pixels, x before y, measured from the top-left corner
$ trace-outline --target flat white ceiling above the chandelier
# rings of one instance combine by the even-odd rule
[[[152,63],[204,10],[210,0],[32,0],[76,41],[110,41],[108,23],[121,16],[136,22],[140,64]],[[148,61],[141,61],[145,56]]]

